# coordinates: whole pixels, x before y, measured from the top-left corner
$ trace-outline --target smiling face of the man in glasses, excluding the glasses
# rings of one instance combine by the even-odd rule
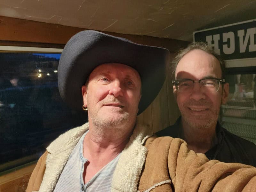
[[[175,79],[200,80],[205,77],[221,78],[219,61],[211,54],[194,49],[185,54],[175,70]],[[199,83],[194,84],[191,92],[173,92],[180,109],[182,122],[200,129],[215,127],[221,103],[225,104],[229,85],[222,84],[217,92],[204,92]]]

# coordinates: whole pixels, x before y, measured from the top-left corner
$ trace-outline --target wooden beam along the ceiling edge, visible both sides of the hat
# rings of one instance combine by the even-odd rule
[[[71,36],[82,30],[86,29],[0,16],[0,41],[7,43],[66,44]],[[169,49],[170,52],[176,52],[189,43],[187,41],[152,36],[127,35],[106,31],[104,33],[124,37],[135,43],[164,47]]]

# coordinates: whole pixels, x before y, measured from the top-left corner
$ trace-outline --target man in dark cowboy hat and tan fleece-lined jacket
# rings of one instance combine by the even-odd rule
[[[71,108],[88,110],[88,123],[49,145],[27,191],[255,189],[256,168],[208,161],[183,140],[152,137],[136,124],[160,91],[168,62],[164,48],[92,30],[73,36],[60,58],[59,90]]]

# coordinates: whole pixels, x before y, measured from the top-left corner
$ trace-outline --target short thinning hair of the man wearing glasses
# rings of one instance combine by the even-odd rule
[[[213,55],[220,62],[221,78],[222,79],[225,78],[226,62],[220,57],[220,55],[218,55],[216,52],[214,52],[214,50],[204,42],[193,42],[193,43],[189,44],[187,47],[180,49],[177,56],[172,60],[172,75],[175,74],[177,65],[180,62],[180,60],[182,59],[182,57],[194,49],[200,49],[202,51],[205,51],[205,52]]]

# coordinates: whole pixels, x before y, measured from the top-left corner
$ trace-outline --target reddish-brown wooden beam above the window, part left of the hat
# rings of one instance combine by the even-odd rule
[[[4,41],[66,44],[71,36],[81,30],[81,28],[0,16],[0,38]]]

